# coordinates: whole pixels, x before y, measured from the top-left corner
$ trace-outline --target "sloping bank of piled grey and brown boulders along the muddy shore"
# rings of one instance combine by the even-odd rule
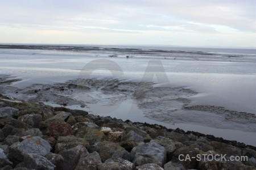
[[[1,169],[255,169],[256,147],[0,95]],[[179,160],[189,154],[217,160]],[[247,161],[218,155],[247,156]],[[217,155],[217,156],[216,156]],[[237,158],[237,157],[236,157]]]

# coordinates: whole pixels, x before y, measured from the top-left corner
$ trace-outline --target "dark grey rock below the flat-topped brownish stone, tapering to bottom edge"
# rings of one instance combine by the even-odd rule
[[[63,169],[64,170],[73,170],[76,168],[77,163],[80,158],[84,158],[89,152],[84,146],[76,146],[69,150],[62,150],[59,154],[64,159]]]

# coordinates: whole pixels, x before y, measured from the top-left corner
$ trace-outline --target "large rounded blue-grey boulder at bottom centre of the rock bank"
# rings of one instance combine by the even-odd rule
[[[131,150],[131,158],[135,165],[155,163],[162,167],[166,163],[166,149],[156,142],[142,143]]]

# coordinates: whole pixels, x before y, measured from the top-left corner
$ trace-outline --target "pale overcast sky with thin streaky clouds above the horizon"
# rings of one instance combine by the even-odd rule
[[[256,46],[255,0],[0,0],[0,43]]]

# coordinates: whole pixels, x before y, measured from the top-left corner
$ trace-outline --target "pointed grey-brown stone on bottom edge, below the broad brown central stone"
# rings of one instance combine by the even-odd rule
[[[97,170],[97,164],[101,163],[98,152],[92,152],[85,158],[81,158],[75,170]]]

